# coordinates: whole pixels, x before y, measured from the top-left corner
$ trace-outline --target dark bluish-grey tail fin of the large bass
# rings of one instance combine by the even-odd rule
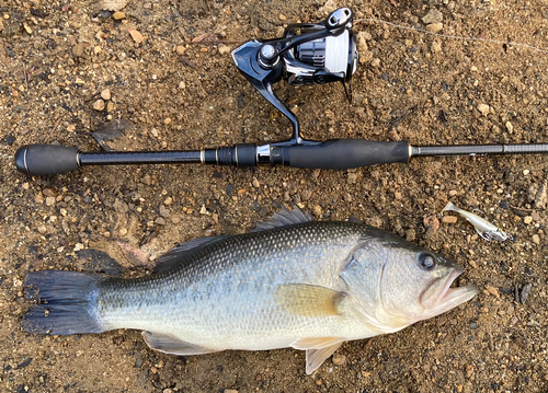
[[[25,278],[27,290],[38,303],[23,316],[28,333],[70,335],[101,333],[105,328],[95,317],[99,284],[102,275],[76,271],[42,270]]]

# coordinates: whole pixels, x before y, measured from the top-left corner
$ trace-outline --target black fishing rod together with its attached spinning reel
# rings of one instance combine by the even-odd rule
[[[352,169],[384,163],[406,163],[422,155],[479,155],[546,153],[548,143],[411,146],[407,141],[331,139],[312,141],[300,136],[297,116],[274,94],[273,84],[289,85],[341,82],[349,100],[358,53],[352,32],[352,11],[341,8],[319,23],[292,24],[282,38],[252,39],[232,50],[246,79],[293,127],[289,140],[255,145],[239,143],[183,151],[81,152],[56,145],[23,146],[15,152],[15,167],[28,175],[54,175],[87,165],[202,163],[250,167],[259,164],[308,169]]]

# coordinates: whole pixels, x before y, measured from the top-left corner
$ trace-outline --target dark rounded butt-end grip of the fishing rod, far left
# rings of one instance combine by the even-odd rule
[[[77,148],[59,145],[26,145],[15,152],[15,167],[27,175],[56,175],[80,166]]]

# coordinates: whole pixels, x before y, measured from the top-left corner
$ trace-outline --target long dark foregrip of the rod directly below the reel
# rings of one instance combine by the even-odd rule
[[[330,139],[313,146],[274,147],[271,151],[273,164],[320,170],[408,162],[409,158],[407,141],[377,142],[365,139]]]

